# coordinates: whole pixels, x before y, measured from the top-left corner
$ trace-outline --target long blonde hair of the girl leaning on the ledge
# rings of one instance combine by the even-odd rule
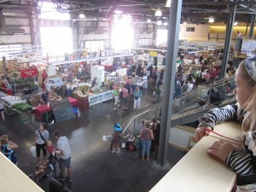
[[[238,69],[240,70],[241,78],[246,79],[247,84],[253,89],[251,96],[245,103],[246,108],[244,110],[249,113],[242,120],[241,127],[244,132],[256,131],[256,81],[247,73],[245,61],[241,61]]]

